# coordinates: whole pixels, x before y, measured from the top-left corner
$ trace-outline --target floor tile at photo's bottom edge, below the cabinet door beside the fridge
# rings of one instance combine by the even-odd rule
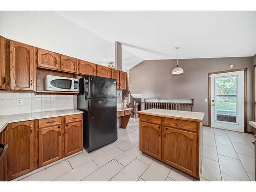
[[[80,181],[98,168],[99,167],[91,160],[58,177],[54,181]]]

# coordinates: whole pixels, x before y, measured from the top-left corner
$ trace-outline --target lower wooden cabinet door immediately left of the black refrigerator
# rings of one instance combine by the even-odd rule
[[[69,156],[82,150],[82,122],[65,124],[65,155]]]

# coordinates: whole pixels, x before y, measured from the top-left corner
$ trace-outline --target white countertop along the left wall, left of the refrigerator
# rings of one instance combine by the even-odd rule
[[[34,119],[45,119],[51,117],[59,117],[65,115],[75,115],[81,114],[82,111],[79,110],[58,110],[58,111],[46,111],[46,112],[35,112],[35,113],[24,113],[15,115],[0,115],[0,132],[2,132],[8,123],[29,121]]]

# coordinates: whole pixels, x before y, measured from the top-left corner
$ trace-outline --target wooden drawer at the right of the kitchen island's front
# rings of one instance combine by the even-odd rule
[[[164,125],[176,129],[197,132],[197,122],[164,118]]]

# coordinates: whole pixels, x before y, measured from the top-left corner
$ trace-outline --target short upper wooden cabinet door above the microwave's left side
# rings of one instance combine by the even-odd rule
[[[56,70],[60,69],[60,54],[37,49],[36,55],[37,66]]]

